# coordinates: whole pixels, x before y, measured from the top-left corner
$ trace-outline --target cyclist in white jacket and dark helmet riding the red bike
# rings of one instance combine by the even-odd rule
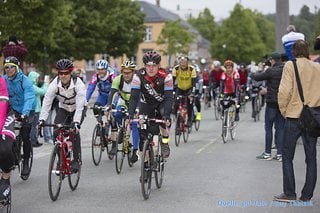
[[[59,107],[54,120],[55,124],[71,123],[75,129],[75,140],[73,142],[73,157],[71,168],[77,172],[80,168],[80,125],[84,119],[86,112],[85,85],[79,77],[72,78],[73,63],[69,59],[60,59],[56,63],[58,76],[55,77],[49,84],[47,93],[43,99],[43,105],[39,116],[39,125],[44,124],[44,121],[49,115],[53,100],[57,98]],[[57,130],[54,130],[54,138],[57,137]]]

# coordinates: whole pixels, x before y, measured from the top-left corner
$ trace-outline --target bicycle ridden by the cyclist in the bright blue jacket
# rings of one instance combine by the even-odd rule
[[[19,171],[19,176],[22,180],[28,180],[30,174],[31,174],[31,168],[33,164],[33,148],[31,146],[30,148],[30,157],[29,157],[29,173],[27,175],[22,175],[22,168],[23,168],[23,163],[24,163],[24,154],[23,154],[23,141],[22,141],[22,136],[20,134],[21,129],[23,128],[23,121],[21,118],[18,116],[15,119],[14,123],[14,131],[16,135],[16,139],[13,141],[13,146],[12,146],[12,151],[14,154],[14,165],[13,169],[18,169]]]

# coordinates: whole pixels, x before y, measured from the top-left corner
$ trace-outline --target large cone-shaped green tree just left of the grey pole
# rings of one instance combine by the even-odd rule
[[[252,13],[236,4],[212,42],[211,55],[221,61],[231,59],[235,62],[261,60],[266,48],[259,36]]]

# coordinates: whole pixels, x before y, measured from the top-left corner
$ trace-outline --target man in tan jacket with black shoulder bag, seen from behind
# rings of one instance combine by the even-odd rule
[[[309,59],[308,44],[298,40],[292,46],[296,58],[299,77],[304,95],[304,103],[309,107],[320,106],[319,82],[320,65]],[[305,151],[306,175],[301,191],[300,201],[310,201],[317,182],[317,137],[311,136],[299,126],[298,118],[302,112],[301,101],[294,66],[288,61],[283,68],[283,74],[278,93],[281,114],[286,118],[282,155],[283,193],[274,196],[274,200],[292,202],[296,200],[293,158],[298,138],[301,136]]]

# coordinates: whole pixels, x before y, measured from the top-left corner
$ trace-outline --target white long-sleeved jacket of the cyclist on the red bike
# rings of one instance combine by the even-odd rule
[[[49,84],[47,93],[44,96],[39,120],[47,119],[52,102],[57,98],[59,108],[62,108],[67,112],[75,112],[73,121],[80,123],[82,111],[87,103],[85,99],[85,91],[85,85],[80,78],[77,77],[77,80],[71,79],[69,87],[64,88],[57,76]]]

